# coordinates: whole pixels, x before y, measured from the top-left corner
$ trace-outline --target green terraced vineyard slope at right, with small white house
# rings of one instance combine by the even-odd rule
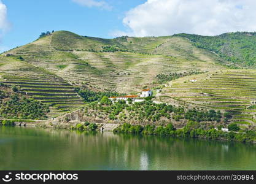
[[[190,82],[196,78],[196,82]],[[221,70],[177,79],[169,84],[163,96],[169,96],[180,104],[211,108],[233,113],[236,123],[256,125],[255,70]],[[162,97],[163,97],[162,96]]]

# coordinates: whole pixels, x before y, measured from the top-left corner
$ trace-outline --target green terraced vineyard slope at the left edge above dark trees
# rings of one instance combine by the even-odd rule
[[[58,76],[16,59],[9,59],[8,63],[1,61],[1,64],[1,82],[8,86],[20,86],[26,95],[50,105],[48,117],[56,117],[83,105],[74,86]]]

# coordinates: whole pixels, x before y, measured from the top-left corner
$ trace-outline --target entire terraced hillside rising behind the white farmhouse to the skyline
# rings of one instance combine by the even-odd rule
[[[256,122],[255,63],[247,36],[255,38],[230,33],[101,39],[56,31],[3,53],[0,79],[50,105],[48,117],[79,109],[87,94],[137,94],[147,87],[162,90],[154,94],[157,101],[231,112],[232,121],[250,126]],[[238,44],[250,47],[248,61]]]

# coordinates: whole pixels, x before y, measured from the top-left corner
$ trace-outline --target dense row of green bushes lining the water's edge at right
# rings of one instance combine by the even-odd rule
[[[203,129],[200,123],[190,121],[184,128],[174,129],[173,125],[169,123],[164,126],[154,125],[130,125],[129,123],[123,123],[114,129],[116,133],[133,133],[133,134],[150,134],[158,136],[171,136],[171,137],[193,137],[193,138],[204,138],[204,139],[216,139],[216,140],[228,140],[238,142],[255,142],[256,131],[246,132],[223,132],[214,128]]]

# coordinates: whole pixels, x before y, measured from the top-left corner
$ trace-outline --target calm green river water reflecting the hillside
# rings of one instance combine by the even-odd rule
[[[0,126],[0,170],[256,170],[256,145]]]

